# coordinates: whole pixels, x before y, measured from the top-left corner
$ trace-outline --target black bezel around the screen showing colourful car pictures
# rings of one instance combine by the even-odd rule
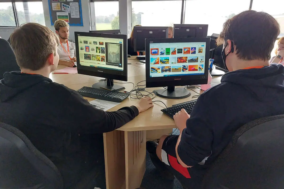
[[[171,77],[150,77],[150,42],[151,43],[196,43],[206,42],[204,75],[185,75]],[[146,87],[185,86],[207,84],[209,67],[210,38],[172,38],[172,39],[146,39]],[[207,69],[206,69],[207,68]]]

